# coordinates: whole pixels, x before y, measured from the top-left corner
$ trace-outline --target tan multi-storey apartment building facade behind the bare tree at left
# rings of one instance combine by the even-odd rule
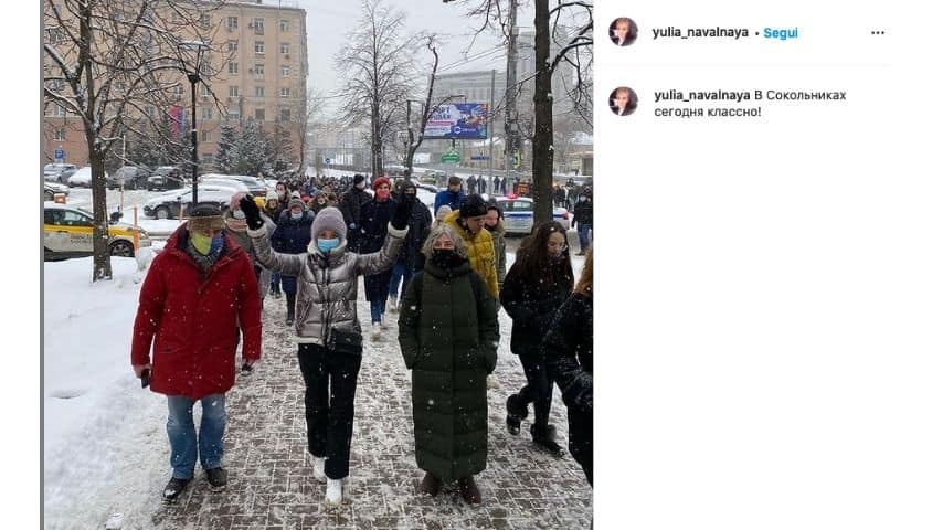
[[[205,4],[210,9],[200,20],[204,31],[195,36],[212,49],[204,59],[213,75],[204,75],[197,88],[201,171],[214,169],[222,128],[250,120],[259,121],[269,132],[275,131],[276,125],[282,126],[293,148],[286,162],[297,167],[303,159],[308,76],[306,12],[286,7],[287,3],[269,0]],[[51,32],[46,33],[44,38],[52,39]],[[44,56],[44,61],[49,59]],[[182,117],[182,130],[189,130],[190,84],[182,71],[170,100],[170,108],[152,110]],[[84,165],[88,152],[81,118],[49,100],[44,102],[43,115],[43,163],[55,161],[55,155],[61,153],[66,162]]]

